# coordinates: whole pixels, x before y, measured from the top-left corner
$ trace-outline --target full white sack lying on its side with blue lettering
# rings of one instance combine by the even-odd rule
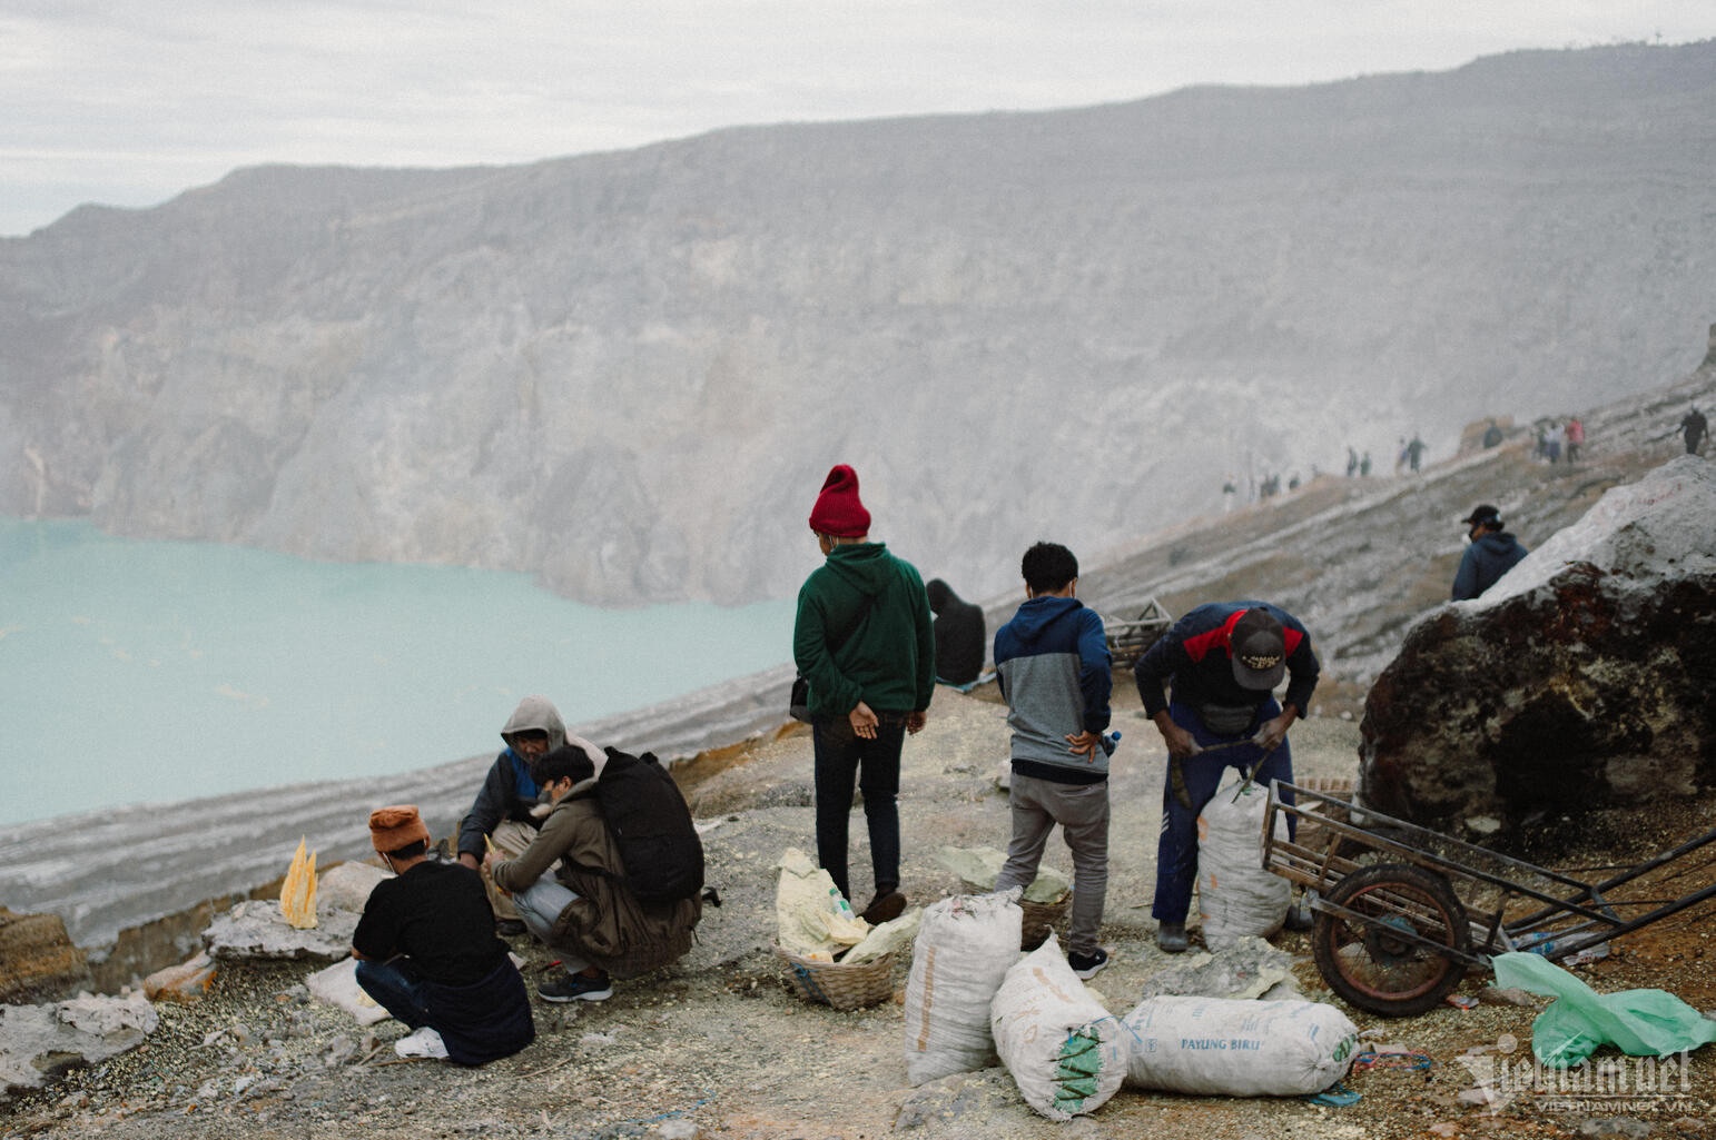
[[[1301,1097],[1347,1075],[1359,1027],[1320,1001],[1148,998],[1126,1015],[1126,1083],[1225,1097]]]

